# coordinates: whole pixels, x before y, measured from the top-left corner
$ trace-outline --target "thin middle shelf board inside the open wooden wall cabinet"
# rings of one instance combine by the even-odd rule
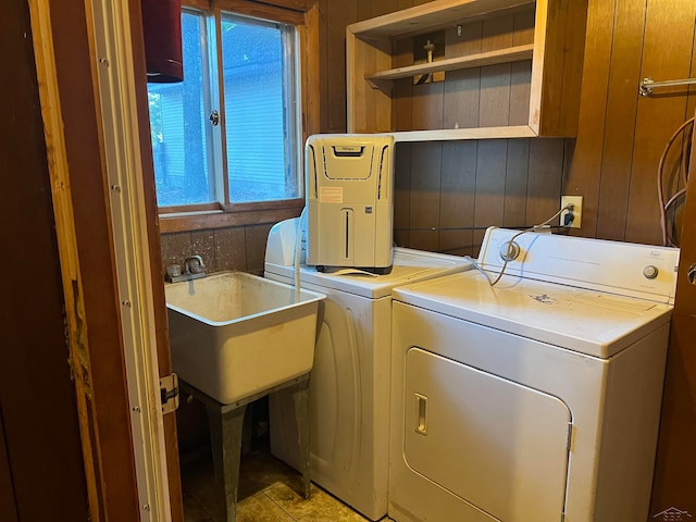
[[[496,51],[481,52],[469,54],[465,57],[450,58],[447,60],[438,60],[431,63],[422,63],[417,65],[408,65],[406,67],[397,67],[388,71],[380,71],[370,75],[365,75],[368,82],[408,78],[419,74],[435,73],[439,71],[456,71],[461,69],[481,67],[484,65],[495,65],[497,63],[519,62],[522,60],[531,60],[534,46],[517,46],[508,49],[499,49]],[[373,84],[373,87],[376,85]]]

